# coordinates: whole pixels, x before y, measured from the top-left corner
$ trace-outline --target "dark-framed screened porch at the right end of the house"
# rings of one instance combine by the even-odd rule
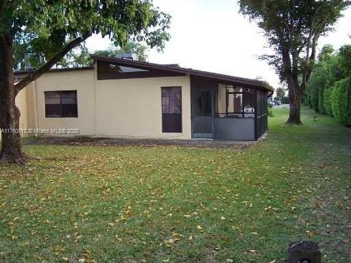
[[[265,90],[191,79],[192,137],[258,140],[267,131]]]

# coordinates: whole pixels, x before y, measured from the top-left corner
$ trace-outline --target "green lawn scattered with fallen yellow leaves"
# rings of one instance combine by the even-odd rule
[[[0,262],[351,262],[351,129],[303,110],[249,149],[25,146],[0,168]]]

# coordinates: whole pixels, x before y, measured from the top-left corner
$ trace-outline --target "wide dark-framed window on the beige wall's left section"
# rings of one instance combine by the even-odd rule
[[[77,118],[77,90],[45,91],[46,118]]]

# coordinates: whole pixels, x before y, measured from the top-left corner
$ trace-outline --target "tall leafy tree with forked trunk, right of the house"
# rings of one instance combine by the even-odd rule
[[[341,11],[350,5],[342,0],[241,0],[240,12],[264,30],[273,55],[263,55],[287,82],[290,114],[288,124],[301,124],[300,105],[316,58],[319,37],[332,29]]]

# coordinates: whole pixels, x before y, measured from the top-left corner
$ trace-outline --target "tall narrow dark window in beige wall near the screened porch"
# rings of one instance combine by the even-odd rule
[[[182,87],[162,87],[162,132],[182,132]]]

